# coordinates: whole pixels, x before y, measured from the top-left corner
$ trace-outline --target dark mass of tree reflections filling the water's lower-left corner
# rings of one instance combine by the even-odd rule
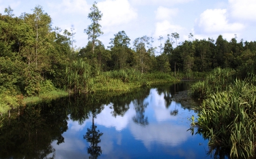
[[[64,142],[66,118],[61,101],[27,105],[20,110],[20,116],[3,121],[0,158],[55,158],[51,143]]]

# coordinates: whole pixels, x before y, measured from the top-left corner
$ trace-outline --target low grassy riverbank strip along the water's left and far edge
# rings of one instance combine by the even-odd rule
[[[90,92],[112,91],[130,92],[137,88],[148,87],[154,84],[176,83],[180,79],[167,73],[145,73],[137,80],[130,80],[131,77],[111,77],[110,75],[99,75],[94,77],[94,84],[89,88]],[[55,89],[49,92],[40,93],[38,96],[28,96],[23,99],[23,103],[40,103],[41,101],[53,100],[63,96],[68,96],[77,92]],[[89,93],[89,92],[87,92]]]

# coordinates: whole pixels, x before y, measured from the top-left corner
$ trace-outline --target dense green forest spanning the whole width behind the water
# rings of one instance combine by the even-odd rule
[[[122,90],[122,84],[129,89],[156,77],[175,81],[177,73],[190,75],[216,67],[236,69],[241,76],[255,72],[256,41],[237,41],[236,35],[231,41],[222,35],[216,40],[193,39],[190,33],[188,41],[177,43],[180,35],[170,33],[166,41],[159,37],[158,49],[152,37],[130,41],[125,31],[117,31],[106,47],[99,40],[102,16],[95,2],[88,14],[91,24],[85,29],[89,42],[74,50],[73,30],[53,27],[42,6],[19,17],[11,7],[5,8],[0,14],[0,112],[18,107],[23,96],[56,88],[93,92],[120,84],[115,90]]]

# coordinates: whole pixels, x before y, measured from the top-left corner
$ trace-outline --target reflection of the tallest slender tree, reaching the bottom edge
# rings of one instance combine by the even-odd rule
[[[96,118],[96,113],[92,112],[91,128],[87,128],[87,133],[83,136],[83,139],[91,143],[91,145],[87,147],[87,153],[90,154],[89,158],[91,159],[96,159],[102,154],[102,149],[98,146],[98,143],[100,143],[100,137],[103,133],[100,133],[100,130],[96,130],[97,126],[94,124],[94,118]]]

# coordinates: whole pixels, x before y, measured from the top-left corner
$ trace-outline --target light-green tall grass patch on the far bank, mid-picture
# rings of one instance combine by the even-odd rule
[[[151,84],[177,82],[177,78],[168,73],[141,73],[135,69],[108,71],[94,77],[93,90],[132,90]]]

